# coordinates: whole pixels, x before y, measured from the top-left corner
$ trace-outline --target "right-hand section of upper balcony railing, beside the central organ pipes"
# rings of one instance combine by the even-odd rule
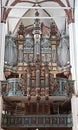
[[[50,95],[72,96],[74,93],[74,81],[66,78],[52,78],[50,80]]]

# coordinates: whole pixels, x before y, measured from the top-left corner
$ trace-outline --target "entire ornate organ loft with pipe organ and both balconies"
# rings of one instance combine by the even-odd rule
[[[21,23],[15,36],[6,36],[4,60],[2,127],[71,128],[74,81],[66,32],[54,20],[50,28],[38,18],[30,28]]]

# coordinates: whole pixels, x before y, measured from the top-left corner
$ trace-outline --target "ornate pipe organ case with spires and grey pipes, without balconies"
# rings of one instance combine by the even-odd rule
[[[26,29],[21,23],[13,40],[10,34],[6,37],[5,76],[9,78],[13,74],[14,78],[20,78],[22,82],[20,85],[19,80],[18,85],[21,86],[19,87],[21,90],[23,89],[24,95],[47,97],[52,87],[52,78],[60,75],[68,78],[64,72],[70,74],[67,37],[65,33],[61,37],[57,35],[55,23],[52,23],[52,28],[53,32],[50,32],[46,26],[42,28],[40,20],[35,19],[31,34],[25,35]],[[46,34],[44,35],[43,32]],[[62,55],[65,55],[65,59]],[[61,58],[64,64],[60,61]]]

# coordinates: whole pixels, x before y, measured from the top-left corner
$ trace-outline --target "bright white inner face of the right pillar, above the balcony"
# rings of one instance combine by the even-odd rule
[[[76,82],[76,48],[75,48],[75,23],[69,24],[69,48],[70,48],[70,65],[72,80],[75,80],[75,93],[77,92]]]

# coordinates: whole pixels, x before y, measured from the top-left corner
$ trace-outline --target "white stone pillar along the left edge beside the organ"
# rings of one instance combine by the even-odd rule
[[[4,52],[5,52],[5,23],[0,23],[0,81],[4,80]],[[0,82],[0,130],[2,118],[3,100],[1,95],[1,82]]]

